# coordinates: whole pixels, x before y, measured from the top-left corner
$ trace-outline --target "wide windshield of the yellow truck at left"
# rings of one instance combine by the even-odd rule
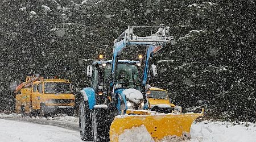
[[[47,82],[44,83],[44,93],[46,94],[70,94],[70,83],[65,82]]]

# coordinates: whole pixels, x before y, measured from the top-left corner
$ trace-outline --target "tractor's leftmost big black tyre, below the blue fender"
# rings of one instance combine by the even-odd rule
[[[82,140],[92,141],[92,112],[88,102],[82,100],[79,105],[79,131]]]

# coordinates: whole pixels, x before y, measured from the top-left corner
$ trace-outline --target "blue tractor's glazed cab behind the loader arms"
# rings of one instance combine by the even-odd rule
[[[115,73],[115,86],[122,88],[133,88],[141,90],[141,74],[139,73],[139,61],[119,60]],[[97,90],[102,86],[107,89],[107,85],[112,80],[111,76],[112,60],[95,61],[92,66],[88,66],[87,76],[92,77],[91,86]],[[101,87],[100,87],[101,88]]]

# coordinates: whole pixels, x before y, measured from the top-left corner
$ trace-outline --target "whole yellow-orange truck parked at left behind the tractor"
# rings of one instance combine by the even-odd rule
[[[16,113],[43,116],[57,112],[74,113],[75,95],[68,80],[27,76],[26,82],[16,87],[15,95]]]

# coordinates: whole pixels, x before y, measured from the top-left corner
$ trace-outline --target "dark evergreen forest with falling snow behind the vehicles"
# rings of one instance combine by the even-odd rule
[[[0,111],[15,86],[40,74],[88,85],[86,66],[127,26],[170,26],[176,44],[154,57],[172,102],[208,119],[256,118],[255,1],[1,0]],[[151,83],[152,83],[151,82]]]

